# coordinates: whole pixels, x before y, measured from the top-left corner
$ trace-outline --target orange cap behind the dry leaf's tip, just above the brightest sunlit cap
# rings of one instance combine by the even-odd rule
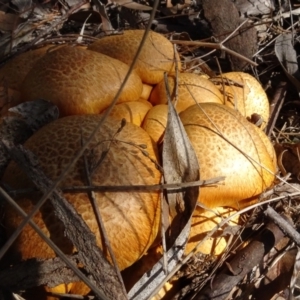
[[[170,88],[171,100],[175,100],[176,93],[176,75],[168,75],[168,84]],[[214,102],[223,103],[223,95],[219,89],[208,79],[193,73],[178,73],[178,100],[176,110],[184,111],[195,103]],[[150,102],[153,105],[166,104],[167,92],[165,81],[158,83],[151,95]]]

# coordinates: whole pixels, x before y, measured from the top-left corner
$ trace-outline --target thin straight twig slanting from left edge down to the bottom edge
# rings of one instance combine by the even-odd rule
[[[21,216],[23,216],[24,218],[27,217],[27,214],[23,211],[23,209],[20,206],[18,206],[15,203],[15,201],[12,198],[10,198],[9,195],[6,194],[6,192],[1,187],[0,194],[5,197],[9,204],[12,205]],[[83,273],[73,265],[72,261],[68,259],[68,257],[41,231],[41,229],[32,220],[29,220],[29,224],[30,226],[32,226],[32,228],[34,228],[34,230],[39,234],[39,236],[55,251],[55,253],[60,257],[60,259],[78,276],[78,278],[84,281],[91,289],[93,289],[93,291],[96,291],[97,294],[102,295],[102,300],[108,300],[108,298],[105,295],[103,295],[103,293],[94,285],[94,283],[87,280],[87,277],[84,276]],[[34,270],[31,269],[31,271],[33,272]],[[31,276],[32,274],[34,273],[31,273]],[[36,280],[37,279],[35,278],[35,282]],[[48,277],[48,280],[51,280],[51,278]],[[11,282],[10,285],[14,285],[14,283]]]

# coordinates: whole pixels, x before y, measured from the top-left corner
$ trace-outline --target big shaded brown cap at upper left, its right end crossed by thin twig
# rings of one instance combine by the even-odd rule
[[[60,116],[97,114],[111,104],[128,69],[106,55],[65,46],[43,56],[29,72],[21,87],[22,100],[49,100]],[[118,102],[136,101],[141,93],[141,79],[132,72]]]

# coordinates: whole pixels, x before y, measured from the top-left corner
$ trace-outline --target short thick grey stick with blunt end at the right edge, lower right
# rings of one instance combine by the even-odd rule
[[[280,229],[291,238],[299,247],[300,246],[300,234],[295,228],[282,216],[280,216],[272,207],[268,207],[265,211],[265,215],[271,219]]]

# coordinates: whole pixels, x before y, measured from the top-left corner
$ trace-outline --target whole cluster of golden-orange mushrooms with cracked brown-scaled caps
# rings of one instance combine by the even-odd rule
[[[50,179],[58,178],[112,103],[143,34],[142,30],[128,30],[104,37],[87,49],[47,46],[20,55],[0,70],[2,85],[18,93],[13,104],[42,98],[59,108],[61,118],[40,129],[25,143],[39,158],[42,170]],[[12,76],[12,69],[21,70],[18,78]],[[269,118],[269,104],[260,84],[244,73],[207,79],[181,72],[177,76],[176,70],[181,70],[181,64],[172,43],[150,32],[117,104],[88,146],[85,155],[92,170],[92,183],[108,186],[160,183],[157,145],[163,143],[167,123],[168,94],[164,80],[167,73],[171,100],[195,150],[201,179],[225,176],[222,184],[201,188],[198,201],[202,206],[220,211],[257,202],[261,193],[272,185],[276,172],[273,146],[261,130]],[[261,128],[247,120],[253,114],[262,117]],[[127,123],[120,129],[122,119]],[[82,157],[61,187],[84,186],[84,174]],[[33,186],[14,162],[2,180],[14,189]],[[154,241],[157,245],[160,239],[160,193],[95,192],[95,195],[119,269],[130,267],[142,257],[145,259],[145,254],[153,251]],[[103,237],[88,195],[65,192],[64,196],[103,249]],[[37,200],[36,196],[19,197],[17,202],[29,212]],[[203,225],[206,218],[212,216],[205,209],[197,208],[186,254],[208,230],[208,225]],[[63,225],[49,203],[33,220],[64,253],[76,251],[64,237]],[[8,207],[5,216],[8,235],[21,221]],[[223,244],[216,249],[210,240],[200,250],[219,254],[225,247]],[[50,258],[55,253],[26,226],[10,256],[14,261]],[[107,259],[110,260],[109,255]],[[130,285],[132,282],[127,288]],[[72,293],[72,289],[66,292]]]

